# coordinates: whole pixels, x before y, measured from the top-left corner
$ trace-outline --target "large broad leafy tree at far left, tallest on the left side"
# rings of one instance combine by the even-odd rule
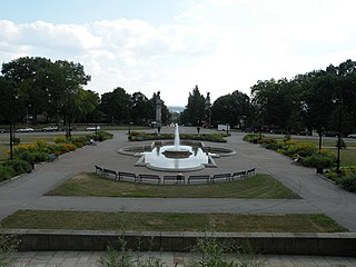
[[[65,120],[73,107],[78,91],[90,81],[80,63],[58,60],[51,62],[46,58],[23,57],[2,65],[4,78],[18,90],[20,112],[24,116],[29,109],[33,115],[47,118],[61,115]],[[78,101],[77,101],[78,102]]]

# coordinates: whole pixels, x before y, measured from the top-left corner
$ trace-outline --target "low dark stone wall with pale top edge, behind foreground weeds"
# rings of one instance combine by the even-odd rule
[[[186,233],[186,231],[82,231],[11,230],[21,240],[19,250],[105,250],[123,236],[136,250],[189,251],[197,239],[215,237],[237,245],[248,243],[261,254],[356,256],[356,233]]]

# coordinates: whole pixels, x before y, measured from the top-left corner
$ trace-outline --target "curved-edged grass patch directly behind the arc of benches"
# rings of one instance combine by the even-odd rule
[[[96,174],[81,172],[47,195],[152,198],[299,198],[269,175],[256,175],[240,181],[214,185],[159,186],[113,181]]]

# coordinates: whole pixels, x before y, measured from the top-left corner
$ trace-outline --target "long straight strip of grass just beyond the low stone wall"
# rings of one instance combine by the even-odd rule
[[[19,210],[1,221],[13,229],[338,233],[325,215],[160,214]]]

